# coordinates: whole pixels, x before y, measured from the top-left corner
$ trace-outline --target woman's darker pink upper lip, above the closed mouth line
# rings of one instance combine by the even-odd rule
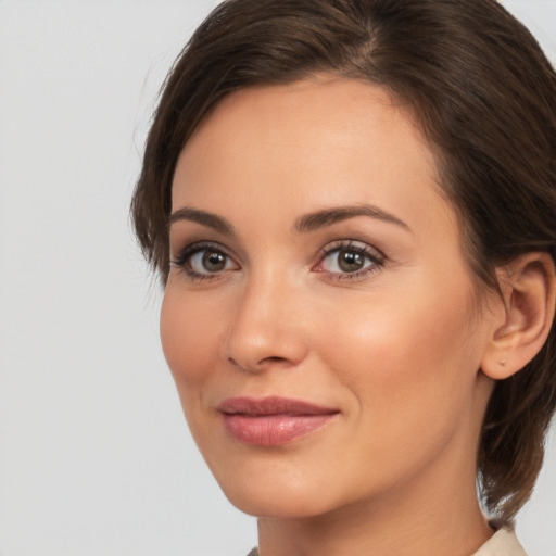
[[[229,397],[218,405],[218,410],[227,415],[328,415],[339,413],[333,407],[316,405],[290,397]]]

